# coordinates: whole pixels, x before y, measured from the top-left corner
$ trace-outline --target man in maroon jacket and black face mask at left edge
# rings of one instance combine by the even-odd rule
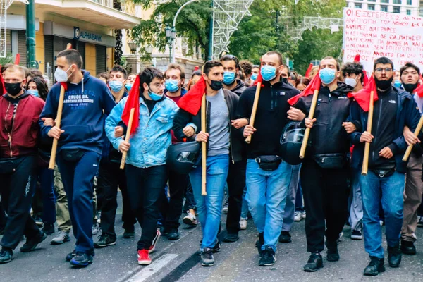
[[[0,242],[0,264],[11,262],[13,249],[24,234],[27,241],[21,252],[35,250],[47,238],[30,216],[36,181],[38,119],[44,101],[27,93],[23,89],[25,82],[20,66],[12,65],[4,71],[6,93],[0,96],[0,195],[8,218]],[[0,83],[3,84],[1,75]]]

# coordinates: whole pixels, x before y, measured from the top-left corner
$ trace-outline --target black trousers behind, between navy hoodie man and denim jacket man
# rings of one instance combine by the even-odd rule
[[[102,221],[100,227],[102,234],[107,234],[116,240],[114,223],[116,218],[116,209],[118,208],[118,188],[122,192],[122,221],[123,229],[133,229],[137,222],[135,213],[131,211],[129,204],[129,195],[126,185],[125,170],[119,168],[121,164],[111,161],[101,161],[99,166],[99,178],[97,182],[97,199],[101,198]]]

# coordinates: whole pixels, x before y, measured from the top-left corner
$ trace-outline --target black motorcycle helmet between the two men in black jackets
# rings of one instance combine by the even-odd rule
[[[300,150],[302,139],[304,138],[305,128],[298,128],[299,122],[292,121],[285,125],[281,135],[281,157],[288,164],[300,164]],[[311,141],[307,143],[306,154],[311,145]]]

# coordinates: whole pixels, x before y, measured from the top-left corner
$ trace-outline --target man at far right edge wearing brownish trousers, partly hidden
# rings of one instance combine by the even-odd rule
[[[406,63],[405,66],[400,69],[400,75],[405,91],[413,95],[417,102],[417,106],[419,106],[419,111],[422,112],[422,98],[419,97],[419,94],[414,93],[419,84],[419,67],[413,63]],[[403,134],[407,144],[420,142],[407,126],[404,127]],[[404,221],[403,230],[401,231],[401,251],[406,255],[416,254],[414,245],[416,237],[414,233],[417,228],[417,209],[422,203],[423,192],[422,154],[422,147],[420,147],[420,145],[415,145],[407,164],[407,179],[405,180],[404,192]]]

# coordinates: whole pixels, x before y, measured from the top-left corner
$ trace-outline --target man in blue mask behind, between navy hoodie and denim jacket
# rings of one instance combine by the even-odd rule
[[[128,96],[125,88],[127,73],[121,66],[114,66],[109,73],[109,87],[111,95],[116,104],[124,97]],[[99,178],[97,183],[97,197],[99,201],[98,210],[102,212],[100,217],[100,228],[102,235],[94,243],[95,248],[107,247],[116,244],[116,232],[114,222],[118,202],[116,200],[118,187],[122,192],[123,201],[123,238],[133,238],[135,236],[134,224],[137,222],[135,214],[130,211],[129,196],[126,186],[125,171],[119,169],[121,165],[122,154],[109,142],[105,136],[103,143],[102,160],[99,166]]]

